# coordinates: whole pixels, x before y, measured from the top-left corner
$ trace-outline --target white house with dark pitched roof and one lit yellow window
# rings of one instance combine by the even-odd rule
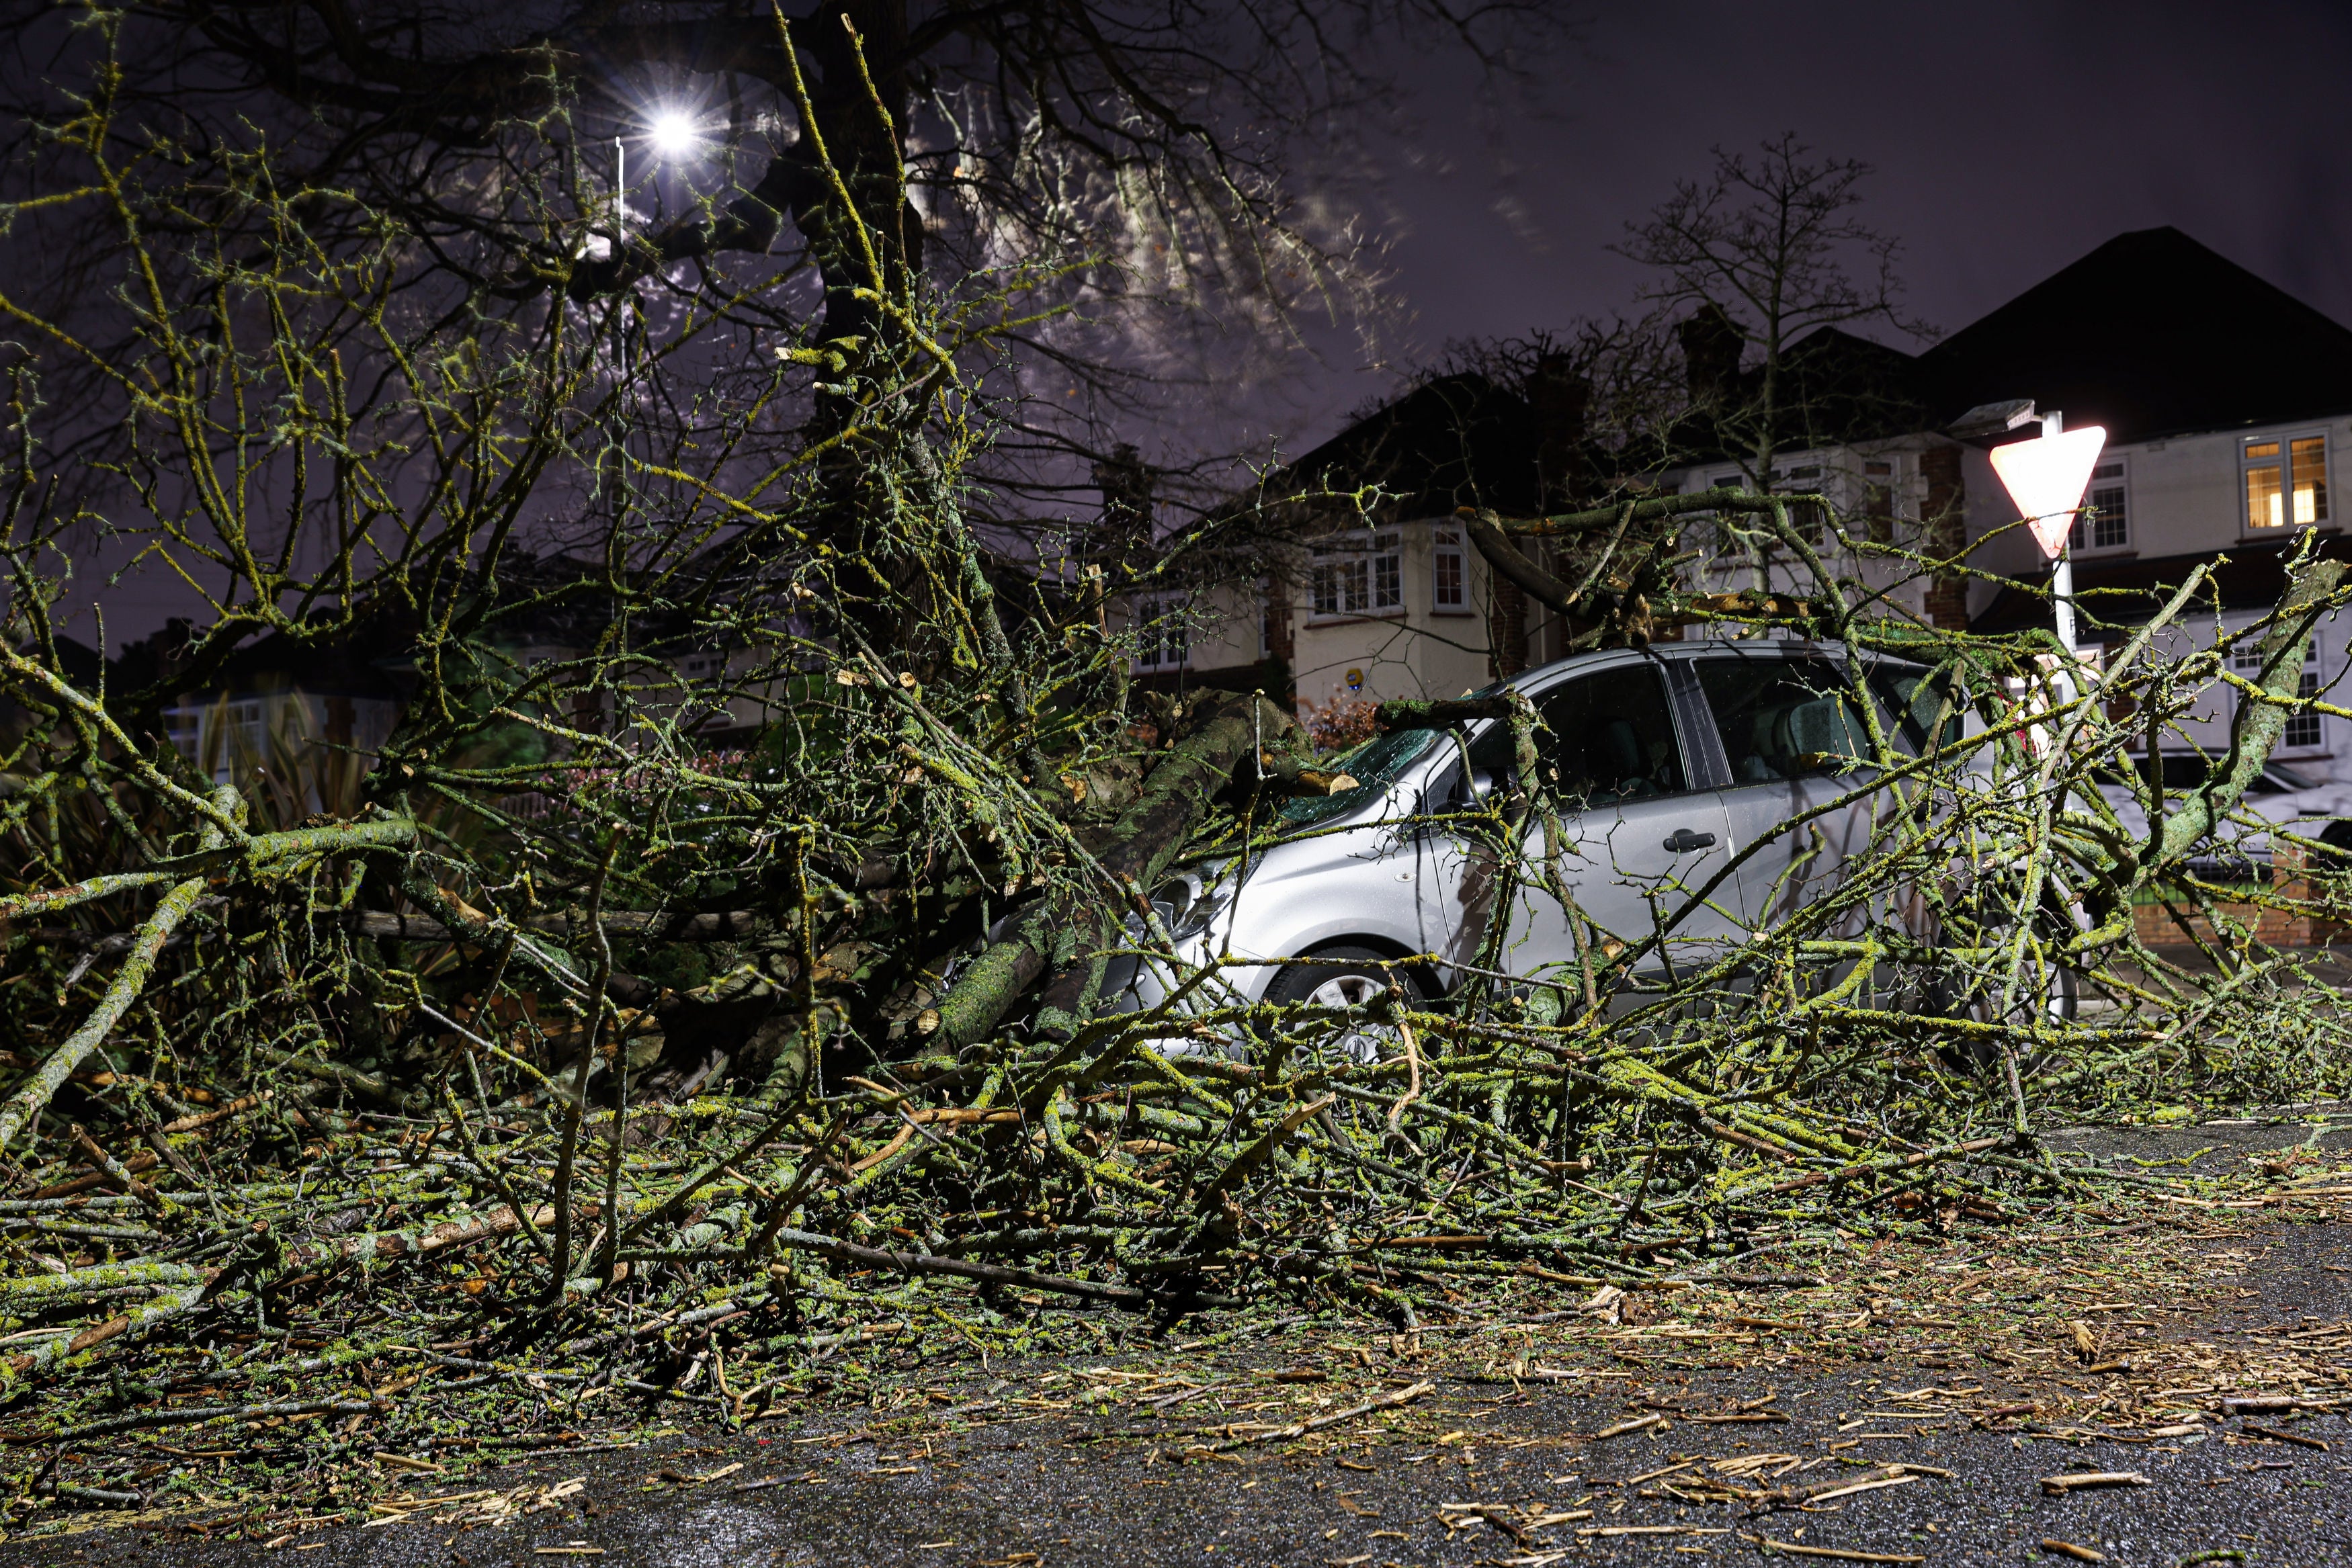
[[[2034,397],[2070,428],[2103,425],[2091,508],[2074,524],[2082,639],[2119,644],[2197,567],[2211,595],[2159,639],[2159,651],[2213,646],[2263,618],[2284,590],[2284,557],[2303,534],[2340,543],[2333,494],[2352,454],[2352,329],[2216,256],[2176,228],[2129,233],[1952,334],[1922,367],[1945,407]],[[1999,388],[1999,390],[1987,390]],[[2030,433],[2027,433],[2030,435]],[[1969,461],[1971,562],[2016,585],[1976,581],[1969,623],[1985,632],[2042,625],[2049,564],[1990,475]],[[2303,670],[2305,693],[2345,675],[2352,625],[2328,621]],[[2258,668],[2251,646],[2237,670]],[[2216,689],[2185,724],[2199,745],[2227,738],[2234,698]],[[2288,719],[2279,757],[2300,771],[2352,776],[2345,719]]]

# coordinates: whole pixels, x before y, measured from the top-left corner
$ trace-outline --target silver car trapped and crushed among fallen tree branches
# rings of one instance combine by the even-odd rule
[[[1510,686],[1543,722],[1536,766],[1562,802],[1562,844],[1548,844],[1538,825],[1529,858],[1557,865],[1583,919],[1536,877],[1510,879],[1498,969],[1578,985],[1581,943],[1613,957],[1661,936],[1644,969],[1663,978],[1719,957],[1837,879],[1870,832],[1865,804],[1823,811],[1853,795],[1856,759],[1867,755],[1846,658],[1820,642],[1689,642],[1581,654],[1515,677]],[[1936,682],[1884,658],[1865,658],[1863,670],[1898,745],[1924,745],[1938,717]],[[1962,733],[1945,717],[1947,733]],[[1343,766],[1357,785],[1289,802],[1282,842],[1162,889],[1178,959],[1218,969],[1188,1006],[1348,1006],[1399,980],[1428,997],[1475,966],[1503,879],[1494,853],[1444,816],[1508,780],[1510,724],[1397,731]],[[1816,811],[1799,830],[1776,832]],[[1122,980],[1127,1006],[1152,1006],[1174,973],[1134,961]]]

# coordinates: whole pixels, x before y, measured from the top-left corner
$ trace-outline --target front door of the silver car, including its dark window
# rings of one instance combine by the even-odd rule
[[[1731,879],[1712,898],[1698,896],[1729,865],[1731,825],[1717,792],[1693,788],[1658,661],[1578,668],[1534,686],[1529,701],[1541,719],[1536,769],[1557,804],[1559,844],[1555,853],[1541,813],[1519,835],[1501,969],[1573,990],[1581,943],[1616,954],[1663,929],[1658,952],[1639,964],[1661,973],[1738,940]],[[1470,790],[1458,799],[1489,785],[1508,792],[1517,788],[1512,773],[1510,726],[1489,724],[1468,745]],[[1550,870],[1573,914],[1552,891]],[[1430,945],[1470,964],[1503,884],[1496,858],[1477,837],[1446,832],[1432,872],[1423,896],[1435,922]]]

